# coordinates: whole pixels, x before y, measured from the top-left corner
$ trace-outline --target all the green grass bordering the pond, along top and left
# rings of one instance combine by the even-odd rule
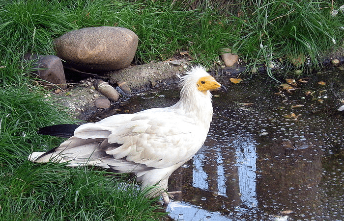
[[[30,152],[62,139],[36,131],[72,123],[71,112],[35,86],[28,52],[55,54],[53,40],[89,26],[122,26],[139,36],[134,62],[166,60],[187,51],[196,63],[218,64],[225,48],[250,67],[288,64],[295,55],[317,61],[343,46],[344,2],[310,0],[0,0],[0,220],[158,220],[153,201],[133,182],[107,171],[36,165]],[[333,39],[336,44],[333,43]],[[304,64],[298,68],[302,68]],[[273,73],[268,70],[271,77]]]

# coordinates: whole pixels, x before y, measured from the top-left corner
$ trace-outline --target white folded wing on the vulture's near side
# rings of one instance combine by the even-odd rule
[[[81,125],[75,130],[75,136],[107,139],[99,148],[114,160],[126,158],[136,164],[165,168],[189,160],[208,132],[194,119],[173,112],[117,116]]]

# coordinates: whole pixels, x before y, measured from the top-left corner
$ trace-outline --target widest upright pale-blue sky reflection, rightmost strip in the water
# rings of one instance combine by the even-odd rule
[[[244,138],[244,137],[241,137]],[[248,207],[256,207],[256,145],[247,138],[247,141],[234,140],[235,160],[239,175],[241,201]]]

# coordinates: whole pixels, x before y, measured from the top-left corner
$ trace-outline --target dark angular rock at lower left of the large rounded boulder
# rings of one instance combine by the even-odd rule
[[[24,59],[36,60],[36,65],[32,67],[32,72],[37,74],[49,90],[66,89],[66,78],[64,76],[63,65],[60,58],[55,55],[27,54]]]

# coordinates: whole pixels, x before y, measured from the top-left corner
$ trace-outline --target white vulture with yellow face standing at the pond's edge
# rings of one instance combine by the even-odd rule
[[[99,166],[120,173],[134,172],[147,196],[162,194],[166,203],[169,176],[203,145],[213,116],[210,91],[226,87],[202,67],[181,77],[179,101],[171,107],[118,114],[97,123],[62,124],[38,133],[69,138],[47,152],[33,152],[37,163],[67,162],[67,166]]]

